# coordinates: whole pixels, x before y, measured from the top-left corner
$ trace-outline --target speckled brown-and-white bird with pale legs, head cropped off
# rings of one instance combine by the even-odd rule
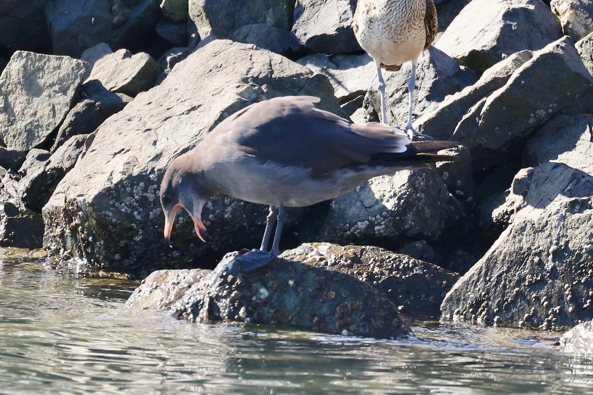
[[[416,62],[431,46],[436,35],[436,8],[433,0],[358,0],[352,28],[356,40],[377,65],[381,120],[387,123],[385,81],[381,69],[397,71],[401,63],[412,62],[408,82],[409,108],[406,130],[410,139],[422,136],[412,127]],[[426,137],[426,136],[425,136]]]

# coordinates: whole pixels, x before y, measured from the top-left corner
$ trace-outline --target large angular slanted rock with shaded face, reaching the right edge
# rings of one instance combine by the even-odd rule
[[[554,84],[541,84],[541,81],[554,81]],[[435,115],[442,122],[432,121],[431,127],[422,127],[422,132],[431,134],[434,128],[437,131],[431,135],[437,139],[460,142],[470,150],[474,170],[486,169],[519,155],[521,143],[555,115],[593,111],[592,86],[593,77],[583,66],[570,38],[565,37],[535,52],[505,85],[468,108],[454,130],[451,126],[460,113],[458,109],[463,107],[460,104],[468,104],[468,101],[456,102],[464,100],[463,95],[443,104],[437,111],[444,114]],[[466,93],[470,94],[471,91]],[[452,106],[454,115],[447,114],[448,105]],[[448,134],[451,130],[452,134]]]

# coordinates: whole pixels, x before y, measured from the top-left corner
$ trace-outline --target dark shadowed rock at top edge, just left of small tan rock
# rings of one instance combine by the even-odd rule
[[[161,19],[160,3],[161,0],[144,0],[136,5],[125,23],[111,31],[111,48],[125,48],[138,53],[147,43],[151,43],[151,37],[155,36],[155,28]]]

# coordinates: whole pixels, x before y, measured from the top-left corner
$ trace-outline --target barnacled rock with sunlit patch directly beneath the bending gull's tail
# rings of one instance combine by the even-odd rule
[[[435,171],[400,171],[373,178],[331,200],[321,226],[323,241],[401,246],[409,240],[435,240],[457,229],[463,216]]]

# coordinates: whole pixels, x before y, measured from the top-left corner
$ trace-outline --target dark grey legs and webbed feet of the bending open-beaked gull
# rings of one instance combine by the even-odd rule
[[[253,249],[244,253],[243,255],[238,255],[237,261],[241,262],[243,265],[243,271],[251,271],[255,269],[259,269],[262,266],[265,266],[272,262],[276,256],[278,256],[279,252],[279,245],[280,245],[280,233],[282,233],[282,226],[284,224],[284,220],[286,218],[286,212],[284,210],[284,206],[282,203],[276,205],[270,205],[270,212],[266,218],[266,230],[263,233],[263,240],[262,246],[259,250]],[[272,235],[272,227],[276,222],[276,233],[274,235],[274,241],[272,242],[272,251],[267,252],[265,251],[267,248],[267,244],[270,241],[270,236]]]

